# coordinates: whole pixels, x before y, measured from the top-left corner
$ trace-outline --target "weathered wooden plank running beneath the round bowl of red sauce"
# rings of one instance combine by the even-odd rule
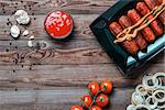
[[[98,16],[98,14],[72,14],[73,19],[74,19],[74,34],[72,35],[72,38],[96,38],[90,29],[89,29],[89,24],[94,21],[95,18]],[[84,18],[86,16],[86,18]],[[44,19],[45,15],[32,15],[31,16],[32,21],[31,24],[28,26],[19,26],[21,29],[21,31],[24,31],[24,28],[30,30],[31,32],[34,33],[35,38],[36,40],[51,40],[51,37],[46,34],[45,30],[44,30]],[[37,22],[36,22],[37,21]],[[13,18],[11,18],[11,15],[1,15],[0,18],[0,40],[13,40],[10,35],[10,28],[11,24],[9,23],[11,22],[12,24],[16,24],[15,20]],[[42,25],[41,25],[42,24]],[[20,36],[19,40],[28,40],[29,36]]]

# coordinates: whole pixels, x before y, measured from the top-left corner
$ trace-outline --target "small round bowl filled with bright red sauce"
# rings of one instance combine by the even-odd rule
[[[74,23],[72,16],[65,11],[53,11],[47,14],[44,26],[53,38],[63,40],[73,32]]]

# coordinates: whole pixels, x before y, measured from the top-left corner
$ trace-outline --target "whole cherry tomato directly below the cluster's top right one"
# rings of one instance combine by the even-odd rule
[[[99,106],[99,107],[106,107],[106,106],[108,106],[108,103],[109,103],[109,97],[107,96],[107,95],[105,95],[105,94],[100,94],[98,97],[97,97],[97,99],[96,99],[96,102],[97,102],[97,105]]]

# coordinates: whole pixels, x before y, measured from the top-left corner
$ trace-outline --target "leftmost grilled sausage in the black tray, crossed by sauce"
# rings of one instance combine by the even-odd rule
[[[114,36],[117,36],[120,32],[123,31],[122,28],[117,22],[112,22],[109,25],[109,30]],[[132,55],[136,54],[139,51],[139,47],[134,41],[123,41],[121,44]]]

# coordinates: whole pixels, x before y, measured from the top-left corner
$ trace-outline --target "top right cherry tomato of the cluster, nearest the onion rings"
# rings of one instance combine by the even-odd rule
[[[112,91],[113,85],[111,80],[103,80],[101,82],[101,91],[105,94],[110,94]]]

